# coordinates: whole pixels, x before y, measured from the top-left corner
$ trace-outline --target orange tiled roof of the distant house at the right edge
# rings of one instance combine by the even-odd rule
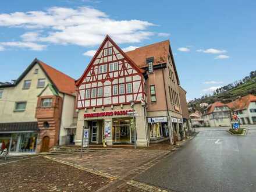
[[[251,102],[256,102],[256,96],[249,94],[228,103],[227,106],[233,109],[233,111],[240,111],[247,109]]]

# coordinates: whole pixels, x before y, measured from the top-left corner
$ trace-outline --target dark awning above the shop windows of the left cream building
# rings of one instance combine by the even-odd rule
[[[1,132],[38,130],[37,122],[0,123]]]

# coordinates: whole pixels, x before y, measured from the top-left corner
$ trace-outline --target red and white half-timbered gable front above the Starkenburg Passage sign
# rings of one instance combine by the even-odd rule
[[[129,104],[145,99],[144,70],[106,35],[98,51],[77,81],[77,108]],[[114,90],[115,89],[115,90]]]

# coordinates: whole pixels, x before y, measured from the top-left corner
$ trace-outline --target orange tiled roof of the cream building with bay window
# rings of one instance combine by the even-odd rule
[[[52,85],[56,87],[56,89],[61,93],[66,94],[74,94],[75,93],[75,86],[74,86],[74,79],[72,77],[67,76],[66,74],[60,72],[57,69],[45,64],[44,62],[38,60],[37,58],[34,59],[33,62],[27,67],[26,70],[19,76],[19,78],[13,84],[4,84],[0,87],[13,87],[22,81],[22,79],[26,76],[27,73],[37,64],[41,67],[44,71],[45,75],[48,77],[49,81],[51,81]]]

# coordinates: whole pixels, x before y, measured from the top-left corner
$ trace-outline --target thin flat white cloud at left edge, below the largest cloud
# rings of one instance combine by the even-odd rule
[[[40,45],[34,42],[20,42],[20,41],[11,41],[11,42],[0,42],[2,47],[16,47],[16,48],[29,48],[33,51],[42,51],[47,47],[47,45]]]

